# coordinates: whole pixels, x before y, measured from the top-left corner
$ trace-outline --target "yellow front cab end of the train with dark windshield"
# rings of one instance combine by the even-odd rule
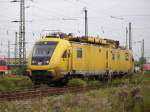
[[[28,62],[29,75],[33,81],[51,83],[57,80],[61,71],[59,64],[68,46],[68,41],[59,38],[45,38],[36,42]]]

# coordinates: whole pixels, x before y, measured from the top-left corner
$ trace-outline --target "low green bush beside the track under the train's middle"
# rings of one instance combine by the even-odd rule
[[[79,78],[75,78],[75,79],[71,79],[68,84],[68,86],[83,86],[85,87],[87,85],[86,81],[79,79]]]

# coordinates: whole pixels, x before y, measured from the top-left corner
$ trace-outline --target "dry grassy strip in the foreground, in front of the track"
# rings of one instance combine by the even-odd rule
[[[112,80],[109,86],[86,93],[4,102],[0,104],[0,109],[2,112],[150,112],[150,80],[145,77],[136,74]],[[71,82],[75,84],[83,81],[74,80]],[[95,81],[90,83],[99,84]],[[119,83],[124,85],[112,86]]]

